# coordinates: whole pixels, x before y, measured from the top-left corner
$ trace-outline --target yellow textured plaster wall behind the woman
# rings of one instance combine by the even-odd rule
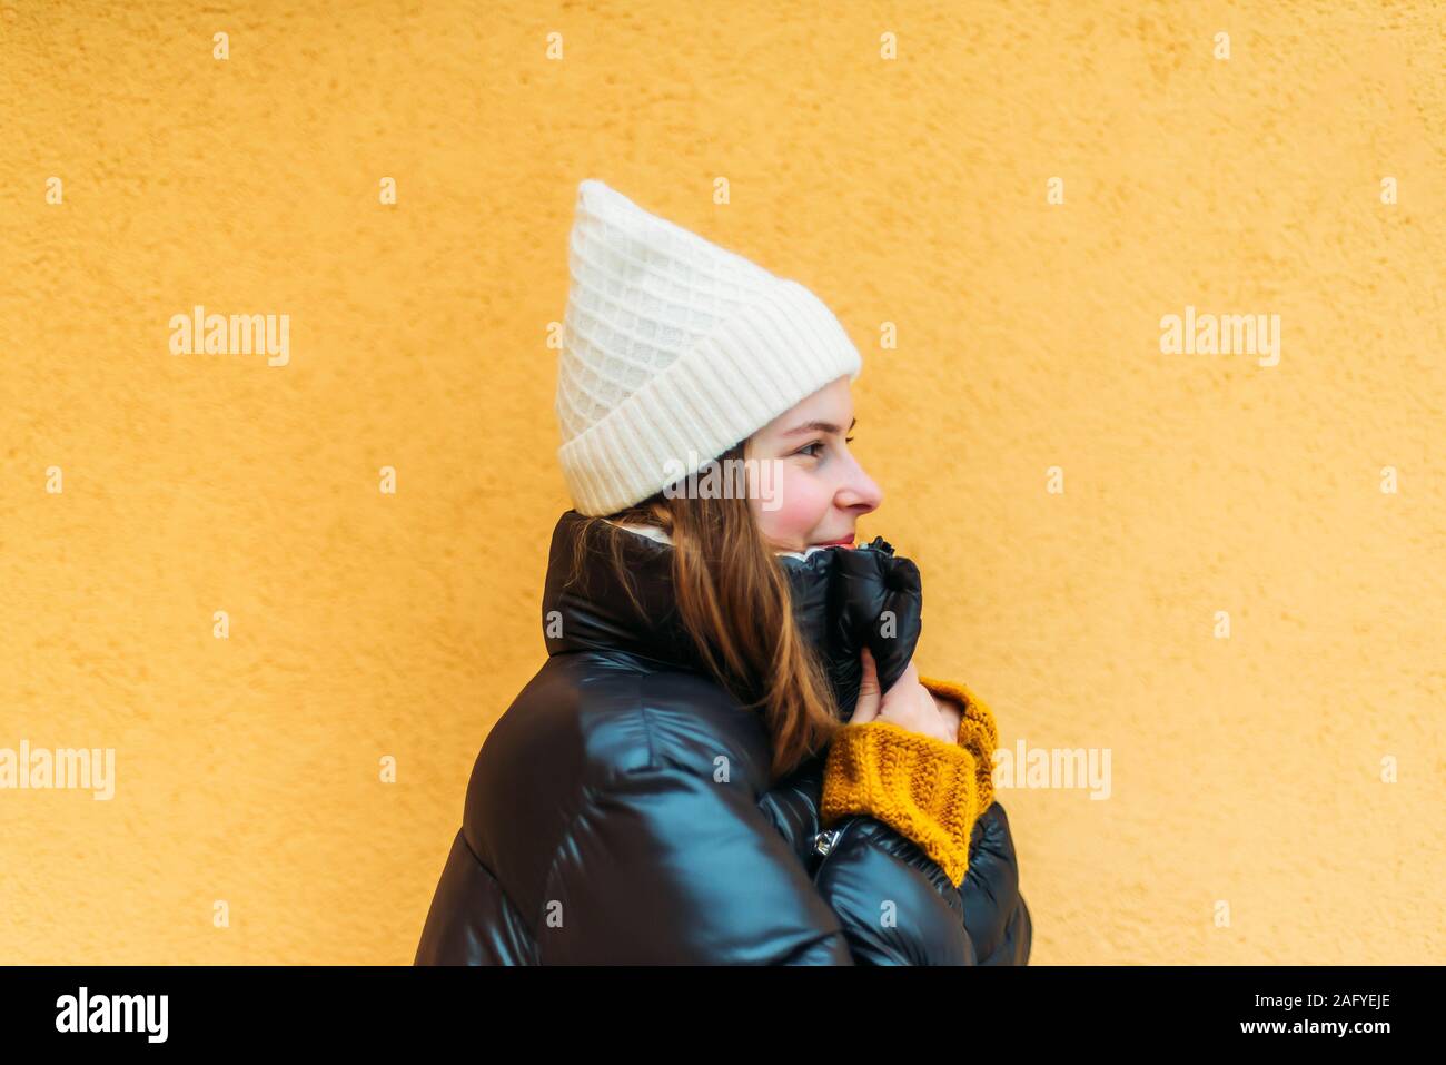
[[[1443,69],[1424,0],[3,0],[0,747],[116,794],[0,792],[0,961],[411,961],[544,655],[584,177],[833,307],[923,671],[1111,751],[999,792],[1034,962],[1446,961]]]

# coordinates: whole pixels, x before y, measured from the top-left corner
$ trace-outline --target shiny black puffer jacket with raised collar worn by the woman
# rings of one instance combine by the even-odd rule
[[[617,530],[642,614],[591,566],[564,587],[558,521],[548,660],[483,742],[418,965],[1022,965],[1031,919],[1009,822],[975,822],[956,888],[869,815],[820,832],[824,755],[769,780],[769,738],[697,660],[671,608],[671,546]],[[882,540],[778,556],[844,718],[868,642],[882,690],[918,637],[918,572]],[[876,642],[879,612],[898,638]]]

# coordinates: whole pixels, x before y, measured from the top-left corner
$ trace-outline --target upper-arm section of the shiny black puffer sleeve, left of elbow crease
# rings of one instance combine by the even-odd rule
[[[839,917],[743,784],[655,764],[589,792],[545,884],[542,964],[855,964]]]

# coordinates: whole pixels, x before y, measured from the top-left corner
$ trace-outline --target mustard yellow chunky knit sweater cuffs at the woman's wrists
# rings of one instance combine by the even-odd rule
[[[956,744],[889,721],[844,725],[824,767],[818,820],[830,828],[869,813],[918,844],[954,887],[969,871],[969,836],[993,802],[993,713],[964,684],[920,677],[933,695],[963,708]]]

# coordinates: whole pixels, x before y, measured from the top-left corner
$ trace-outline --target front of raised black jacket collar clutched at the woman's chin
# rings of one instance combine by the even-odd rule
[[[792,587],[798,629],[818,653],[839,716],[849,721],[859,702],[865,647],[873,654],[879,692],[888,692],[914,657],[924,609],[918,566],[895,556],[884,537],[778,560]]]

